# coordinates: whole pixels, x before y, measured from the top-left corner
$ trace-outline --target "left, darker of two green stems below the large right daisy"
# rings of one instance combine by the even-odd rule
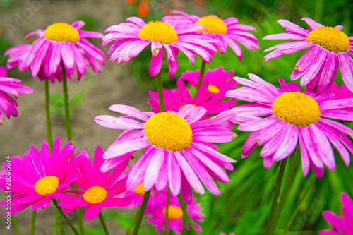
[[[268,223],[267,223],[265,235],[272,235],[273,234],[273,229],[272,229],[273,222],[275,220],[275,212],[276,212],[276,207],[277,207],[277,203],[278,203],[278,197],[280,196],[282,179],[283,179],[283,174],[285,174],[286,164],[287,164],[287,158],[283,159],[280,162],[280,170],[278,171],[275,192],[273,193],[273,200],[272,200],[270,215],[268,216]]]

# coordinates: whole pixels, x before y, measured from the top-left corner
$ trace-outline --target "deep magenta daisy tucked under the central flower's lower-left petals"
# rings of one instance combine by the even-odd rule
[[[103,150],[98,145],[93,158],[93,165],[90,157],[85,153],[82,163],[76,168],[71,166],[70,171],[78,174],[74,181],[80,190],[66,191],[56,198],[60,200],[59,206],[64,207],[64,213],[73,212],[79,207],[88,207],[85,211],[85,218],[90,221],[100,214],[102,207],[126,207],[131,204],[130,200],[116,198],[115,196],[125,191],[126,178],[118,180],[121,173],[128,164],[128,159],[119,164],[110,174],[110,171],[102,173]],[[83,195],[68,194],[77,193]]]

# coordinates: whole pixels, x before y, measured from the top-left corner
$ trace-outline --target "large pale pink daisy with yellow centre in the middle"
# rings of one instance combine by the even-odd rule
[[[101,115],[95,122],[101,126],[126,129],[121,136],[108,147],[103,157],[106,159],[102,171],[107,171],[128,158],[133,152],[146,148],[138,159],[126,182],[126,190],[133,191],[143,181],[144,190],[153,186],[161,191],[169,184],[173,195],[181,192],[186,202],[191,202],[191,187],[197,193],[205,193],[202,183],[208,190],[220,195],[215,179],[229,182],[227,172],[233,170],[230,157],[215,150],[211,143],[226,143],[236,136],[231,128],[234,114],[222,112],[213,118],[202,120],[206,110],[194,108],[191,104],[179,112],[140,112],[126,105],[112,105],[114,112],[127,116],[114,117]],[[143,123],[133,119],[140,119]],[[157,173],[157,174],[156,174]],[[202,181],[202,183],[201,183]]]

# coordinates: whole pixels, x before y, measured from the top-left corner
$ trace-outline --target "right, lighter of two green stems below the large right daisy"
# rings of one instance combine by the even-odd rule
[[[275,231],[278,219],[280,219],[280,215],[281,215],[281,212],[282,212],[283,205],[285,205],[285,200],[286,200],[286,197],[287,197],[287,193],[288,193],[290,185],[292,183],[292,179],[293,179],[293,176],[294,176],[294,171],[295,171],[295,169],[297,167],[299,157],[300,157],[300,147],[298,145],[297,146],[297,150],[295,150],[292,163],[290,164],[290,167],[289,167],[289,171],[288,171],[288,174],[287,174],[287,177],[286,177],[285,186],[283,187],[282,194],[280,195],[280,198],[278,198],[278,204],[277,204],[277,207],[276,207],[275,221],[273,222],[273,228],[272,228],[273,231],[272,231],[272,233]]]

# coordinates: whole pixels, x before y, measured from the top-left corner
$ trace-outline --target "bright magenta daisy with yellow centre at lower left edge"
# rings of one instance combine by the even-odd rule
[[[32,205],[32,210],[40,207],[44,209],[50,204],[52,198],[70,188],[69,183],[78,176],[66,171],[68,160],[73,164],[80,163],[79,152],[73,156],[75,147],[68,142],[60,150],[60,138],[55,140],[52,154],[49,153],[47,143],[42,144],[38,152],[34,146],[30,147],[28,154],[20,158],[11,158],[11,207],[6,210],[11,215],[16,214]],[[4,200],[0,205],[6,205]]]

